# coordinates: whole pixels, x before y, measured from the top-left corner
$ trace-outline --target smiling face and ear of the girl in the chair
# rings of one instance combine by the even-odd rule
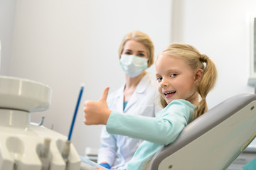
[[[159,55],[156,60],[158,90],[168,104],[175,99],[184,99],[198,105],[196,82],[202,75],[202,69],[193,71],[185,60],[179,57]]]

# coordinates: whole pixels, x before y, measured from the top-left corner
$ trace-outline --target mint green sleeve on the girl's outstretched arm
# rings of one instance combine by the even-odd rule
[[[192,112],[193,109],[192,107]],[[107,120],[107,132],[168,145],[176,140],[190,117],[191,108],[182,103],[166,106],[156,118],[112,111]]]

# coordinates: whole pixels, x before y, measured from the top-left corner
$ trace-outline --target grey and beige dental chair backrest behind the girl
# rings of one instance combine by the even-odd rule
[[[256,135],[256,94],[233,96],[188,124],[157,152],[150,170],[221,170]]]

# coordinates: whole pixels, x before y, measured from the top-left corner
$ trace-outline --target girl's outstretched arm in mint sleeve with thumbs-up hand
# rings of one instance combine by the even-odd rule
[[[107,125],[107,132],[112,134],[168,145],[176,140],[193,113],[194,108],[190,106],[191,103],[184,100],[173,101],[156,118],[115,113],[107,107],[109,89],[107,87],[104,90],[100,101],[85,102],[86,125]]]

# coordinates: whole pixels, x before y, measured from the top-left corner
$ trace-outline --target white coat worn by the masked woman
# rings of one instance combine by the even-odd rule
[[[108,96],[107,104],[110,110],[118,111],[120,114],[154,117],[161,110],[155,77],[147,73],[139,81],[124,111],[124,85]],[[108,162],[112,169],[122,168],[132,159],[141,142],[142,140],[126,136],[110,135],[104,126],[97,162]]]

